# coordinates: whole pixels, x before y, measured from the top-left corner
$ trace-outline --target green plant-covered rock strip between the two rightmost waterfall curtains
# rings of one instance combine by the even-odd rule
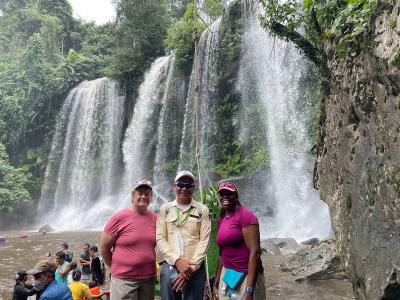
[[[234,124],[236,112],[240,109],[239,94],[235,90],[236,67],[240,56],[240,42],[243,38],[243,10],[240,1],[232,2],[229,6],[228,18],[222,19],[223,32],[221,33],[220,47],[217,50],[218,87],[220,98],[216,115],[221,128],[218,128],[216,145],[217,165],[214,169],[221,177],[226,178],[239,174],[248,174],[269,165],[269,153],[266,135],[263,126],[259,125],[260,103],[257,99],[247,99],[248,109],[252,114],[251,134],[239,139]],[[240,122],[240,120],[238,120]],[[258,125],[257,125],[258,124]]]

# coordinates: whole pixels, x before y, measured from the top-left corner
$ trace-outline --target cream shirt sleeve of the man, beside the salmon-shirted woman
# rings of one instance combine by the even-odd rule
[[[178,260],[180,257],[178,254],[175,253],[175,251],[169,245],[167,240],[167,234],[168,232],[165,221],[165,209],[161,206],[156,222],[155,239],[157,247],[163,254],[166,262],[168,262],[169,264],[175,264],[175,261]]]

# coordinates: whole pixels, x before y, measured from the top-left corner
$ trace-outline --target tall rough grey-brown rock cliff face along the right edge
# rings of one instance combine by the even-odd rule
[[[314,184],[356,299],[400,298],[400,1],[379,5],[370,47],[340,60],[327,41],[320,80]]]

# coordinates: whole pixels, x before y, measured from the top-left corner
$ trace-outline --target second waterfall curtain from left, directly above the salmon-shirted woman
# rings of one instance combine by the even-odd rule
[[[121,207],[129,203],[126,195],[134,181],[155,177],[158,184],[166,180],[164,166],[177,158],[182,126],[178,112],[184,104],[171,91],[173,60],[173,55],[157,58],[140,84],[122,146],[125,184]]]

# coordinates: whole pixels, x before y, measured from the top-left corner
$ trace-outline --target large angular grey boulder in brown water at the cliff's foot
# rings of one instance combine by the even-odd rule
[[[346,278],[334,237],[299,250],[279,268],[283,272],[291,272],[296,281]]]

